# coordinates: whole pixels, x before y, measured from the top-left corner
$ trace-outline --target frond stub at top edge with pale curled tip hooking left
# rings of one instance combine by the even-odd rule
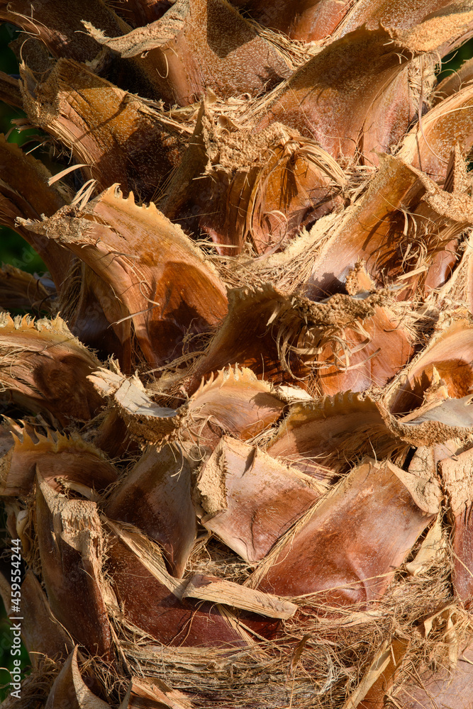
[[[159,20],[116,39],[86,27],[122,57],[150,52],[162,97],[180,106],[208,89],[222,98],[256,96],[290,74],[283,55],[224,0],[177,0]]]

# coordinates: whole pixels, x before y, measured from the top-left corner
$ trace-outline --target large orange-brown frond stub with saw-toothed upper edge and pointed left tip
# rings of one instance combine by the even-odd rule
[[[159,365],[179,357],[185,336],[226,314],[225,286],[179,226],[153,203],[138,206],[133,193],[123,199],[115,185],[84,210],[66,207],[28,228],[65,245],[111,289],[101,306],[121,342],[126,371],[132,323],[146,361]]]

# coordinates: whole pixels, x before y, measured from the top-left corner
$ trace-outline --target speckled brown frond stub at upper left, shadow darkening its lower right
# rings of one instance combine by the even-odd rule
[[[72,60],[39,84],[27,67],[22,79],[30,121],[72,150],[99,189],[118,182],[126,194],[155,196],[179,161],[185,128]]]

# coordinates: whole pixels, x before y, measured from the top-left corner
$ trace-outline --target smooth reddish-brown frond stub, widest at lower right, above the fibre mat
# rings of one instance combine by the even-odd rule
[[[403,477],[391,464],[355,468],[288,533],[252,585],[280,596],[318,593],[332,606],[381,598],[391,569],[432,519]]]

